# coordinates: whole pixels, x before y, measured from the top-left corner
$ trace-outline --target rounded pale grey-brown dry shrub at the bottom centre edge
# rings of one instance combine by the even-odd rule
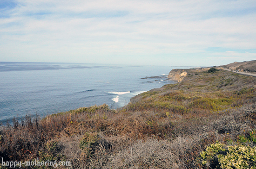
[[[128,149],[121,150],[113,156],[109,168],[113,169],[148,169],[179,168],[179,164],[167,141],[148,139],[138,140]]]

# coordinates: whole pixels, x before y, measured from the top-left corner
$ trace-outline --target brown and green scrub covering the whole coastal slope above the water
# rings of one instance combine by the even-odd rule
[[[186,69],[181,82],[116,110],[14,118],[0,127],[0,157],[70,161],[74,169],[256,169],[256,78],[209,70]]]

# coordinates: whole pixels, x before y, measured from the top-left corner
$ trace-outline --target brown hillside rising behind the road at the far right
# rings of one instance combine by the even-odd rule
[[[232,69],[232,70],[238,70],[242,72],[256,72],[256,60],[254,61],[244,61],[244,62],[234,62],[234,63],[229,63],[227,65],[222,65],[218,66],[221,68],[226,68],[226,69]]]

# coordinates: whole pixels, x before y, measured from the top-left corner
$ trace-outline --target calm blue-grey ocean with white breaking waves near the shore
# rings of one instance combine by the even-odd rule
[[[168,83],[170,66],[0,62],[0,123],[27,114],[48,114],[108,104]],[[176,68],[175,68],[176,69]]]

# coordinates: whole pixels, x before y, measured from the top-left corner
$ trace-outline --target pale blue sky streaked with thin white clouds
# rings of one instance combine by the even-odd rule
[[[256,0],[0,0],[0,62],[256,60]]]

